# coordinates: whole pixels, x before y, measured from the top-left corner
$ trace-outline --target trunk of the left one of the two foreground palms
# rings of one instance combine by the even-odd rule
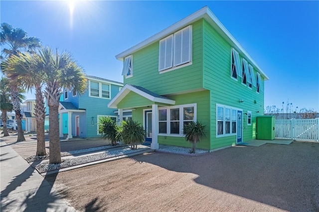
[[[36,119],[36,155],[46,155],[45,152],[45,136],[44,136],[44,120],[45,120],[45,108],[44,99],[42,96],[41,86],[35,87],[35,108],[34,116]]]

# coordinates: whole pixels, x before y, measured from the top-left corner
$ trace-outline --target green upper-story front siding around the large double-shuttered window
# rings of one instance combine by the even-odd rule
[[[133,76],[124,84],[142,86],[160,95],[202,88],[202,20],[192,24],[192,65],[159,72],[159,41],[133,54]]]

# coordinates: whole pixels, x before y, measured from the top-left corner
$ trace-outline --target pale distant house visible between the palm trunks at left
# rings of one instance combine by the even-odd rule
[[[26,132],[36,132],[36,119],[34,116],[35,100],[29,99],[23,102],[22,130]],[[24,123],[24,124],[23,124]]]

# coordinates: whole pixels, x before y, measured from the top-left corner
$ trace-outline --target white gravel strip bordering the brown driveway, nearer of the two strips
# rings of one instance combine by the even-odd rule
[[[89,163],[97,160],[103,160],[110,157],[120,156],[124,154],[129,154],[137,151],[143,151],[149,148],[138,148],[138,149],[131,149],[130,147],[123,148],[120,150],[106,150],[104,153],[100,154],[93,154],[83,157],[75,157],[75,158],[68,158],[62,159],[61,163],[49,164],[48,161],[42,161],[35,168],[40,172],[48,172],[56,169],[67,168],[71,166],[76,166],[84,163]]]

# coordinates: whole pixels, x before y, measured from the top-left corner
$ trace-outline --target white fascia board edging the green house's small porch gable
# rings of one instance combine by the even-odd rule
[[[163,98],[158,98],[158,97],[154,97],[148,93],[145,93],[139,89],[137,89],[136,87],[133,87],[132,85],[126,84],[121,90],[120,92],[118,92],[118,94],[116,94],[116,96],[109,102],[108,107],[109,108],[117,108],[118,103],[124,99],[124,97],[129,94],[130,91],[133,91],[147,99],[149,99],[152,102],[160,102],[160,103],[164,103],[164,104],[171,104],[174,105],[175,101],[171,100],[171,99],[163,99]]]

